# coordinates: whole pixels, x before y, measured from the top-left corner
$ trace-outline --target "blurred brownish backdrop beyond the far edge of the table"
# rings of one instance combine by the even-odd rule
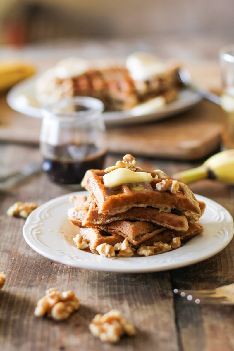
[[[160,34],[234,37],[233,0],[1,0],[1,44]]]

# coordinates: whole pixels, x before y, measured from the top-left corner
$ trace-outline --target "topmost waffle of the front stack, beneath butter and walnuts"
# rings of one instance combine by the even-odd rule
[[[153,178],[156,176],[154,171],[144,172],[151,173]],[[103,183],[104,174],[104,170],[88,170],[81,182],[81,186],[93,194],[101,213],[114,215],[132,207],[152,206],[162,212],[179,211],[192,221],[198,221],[201,217],[198,201],[193,192],[183,183],[179,182],[179,192],[176,194],[156,190],[156,183],[162,179],[153,179],[151,183],[138,183],[144,188],[141,191],[133,190],[131,184],[107,188]]]

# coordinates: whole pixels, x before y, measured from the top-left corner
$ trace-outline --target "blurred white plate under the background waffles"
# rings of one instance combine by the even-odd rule
[[[36,100],[35,81],[39,76],[26,79],[15,85],[7,94],[7,103],[13,110],[41,118],[40,104]],[[172,116],[176,113],[189,110],[201,100],[199,94],[189,90],[181,90],[179,98],[167,105],[159,107],[156,111],[136,115],[133,111],[104,112],[107,125],[127,124],[134,122],[149,122]]]

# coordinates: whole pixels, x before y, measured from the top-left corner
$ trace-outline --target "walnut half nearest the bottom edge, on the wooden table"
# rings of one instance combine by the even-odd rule
[[[135,327],[128,322],[120,311],[114,309],[105,314],[96,314],[89,324],[91,333],[103,342],[119,342],[124,334],[133,336]]]

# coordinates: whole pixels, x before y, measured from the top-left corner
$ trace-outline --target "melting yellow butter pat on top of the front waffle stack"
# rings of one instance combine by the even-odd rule
[[[117,168],[103,176],[104,185],[108,188],[122,184],[140,183],[152,181],[153,177],[147,172],[134,172],[128,168]]]

